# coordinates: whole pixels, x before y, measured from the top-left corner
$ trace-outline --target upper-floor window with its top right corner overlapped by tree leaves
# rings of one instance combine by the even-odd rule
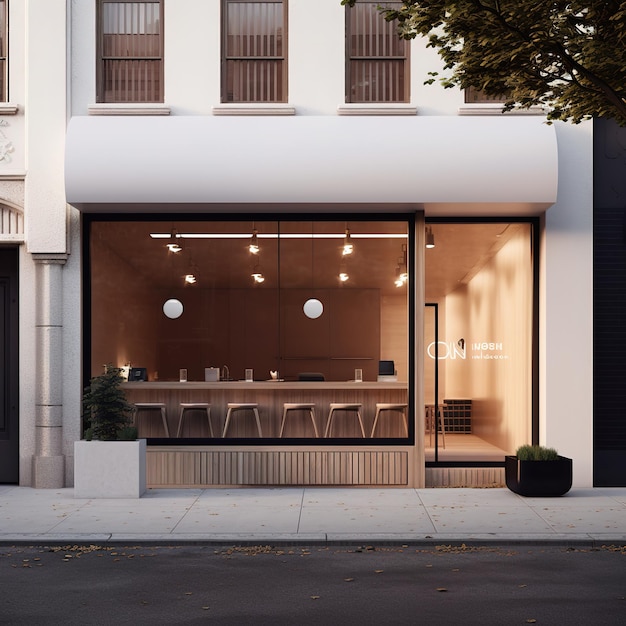
[[[357,0],[346,8],[346,102],[409,101],[409,45],[381,15],[380,4]]]

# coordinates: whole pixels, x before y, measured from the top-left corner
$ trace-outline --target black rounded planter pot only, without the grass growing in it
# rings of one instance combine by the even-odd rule
[[[504,472],[506,486],[520,496],[562,496],[572,487],[572,459],[564,456],[556,461],[520,461],[507,456]]]

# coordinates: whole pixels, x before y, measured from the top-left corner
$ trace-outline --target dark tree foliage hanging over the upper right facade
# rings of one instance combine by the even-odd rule
[[[357,0],[342,0],[354,6]],[[428,38],[444,87],[506,96],[505,110],[543,106],[549,120],[626,125],[626,2],[404,0],[379,10],[404,39]],[[437,77],[437,78],[434,78]]]

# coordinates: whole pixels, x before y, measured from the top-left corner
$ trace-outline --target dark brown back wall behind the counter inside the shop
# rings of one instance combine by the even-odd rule
[[[349,380],[354,369],[361,368],[365,380],[376,380],[378,290],[317,290],[324,314],[315,320],[302,311],[310,296],[310,291],[298,289],[191,288],[163,294],[163,301],[178,297],[184,312],[171,320],[157,308],[159,379],[177,380],[179,369],[186,368],[188,380],[204,380],[205,367],[227,365],[235,379],[252,368],[257,380],[269,378],[270,370],[291,380],[303,371],[321,372],[327,380]]]

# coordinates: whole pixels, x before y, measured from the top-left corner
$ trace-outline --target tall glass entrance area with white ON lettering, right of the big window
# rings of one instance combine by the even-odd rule
[[[430,223],[427,462],[502,462],[532,439],[532,222]]]

